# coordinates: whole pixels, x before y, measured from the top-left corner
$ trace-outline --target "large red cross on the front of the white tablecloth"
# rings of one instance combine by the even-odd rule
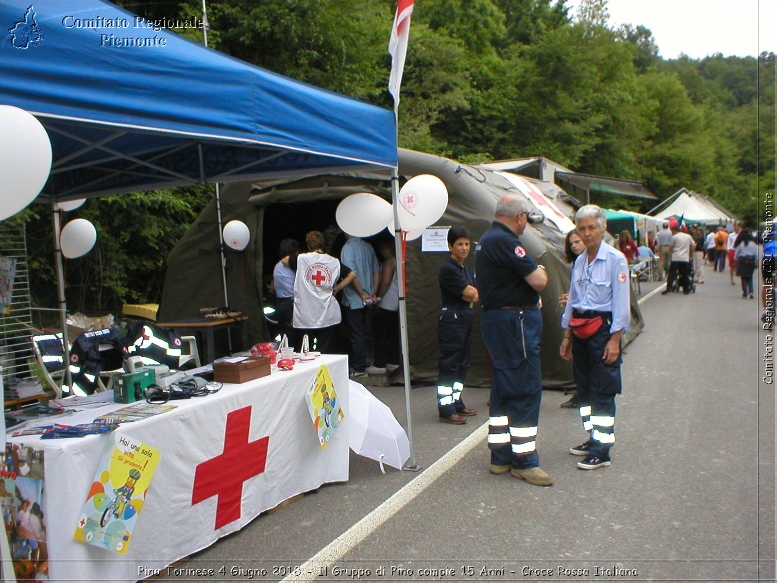
[[[218,496],[214,530],[240,518],[243,482],[264,471],[270,436],[249,442],[250,426],[251,406],[228,414],[224,451],[197,465],[194,472],[192,505]]]

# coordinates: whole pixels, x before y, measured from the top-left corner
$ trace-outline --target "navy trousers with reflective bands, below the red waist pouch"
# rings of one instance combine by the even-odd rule
[[[610,340],[612,320],[604,323],[593,336],[581,340],[572,337],[572,371],[577,383],[580,419],[592,442],[592,456],[608,458],[615,443],[615,395],[621,392],[622,355],[611,365],[602,357]]]

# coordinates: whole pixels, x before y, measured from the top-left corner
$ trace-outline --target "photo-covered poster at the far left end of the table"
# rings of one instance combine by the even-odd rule
[[[0,507],[17,581],[48,581],[44,449],[6,443]]]

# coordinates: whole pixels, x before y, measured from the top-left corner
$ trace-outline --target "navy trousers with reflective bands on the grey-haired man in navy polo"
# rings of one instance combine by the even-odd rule
[[[491,355],[491,463],[516,470],[537,467],[542,314],[538,309],[484,309],[481,321]]]

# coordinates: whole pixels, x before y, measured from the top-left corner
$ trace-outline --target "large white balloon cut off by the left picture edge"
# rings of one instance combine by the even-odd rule
[[[0,221],[30,204],[50,173],[51,141],[40,121],[0,105]]]

